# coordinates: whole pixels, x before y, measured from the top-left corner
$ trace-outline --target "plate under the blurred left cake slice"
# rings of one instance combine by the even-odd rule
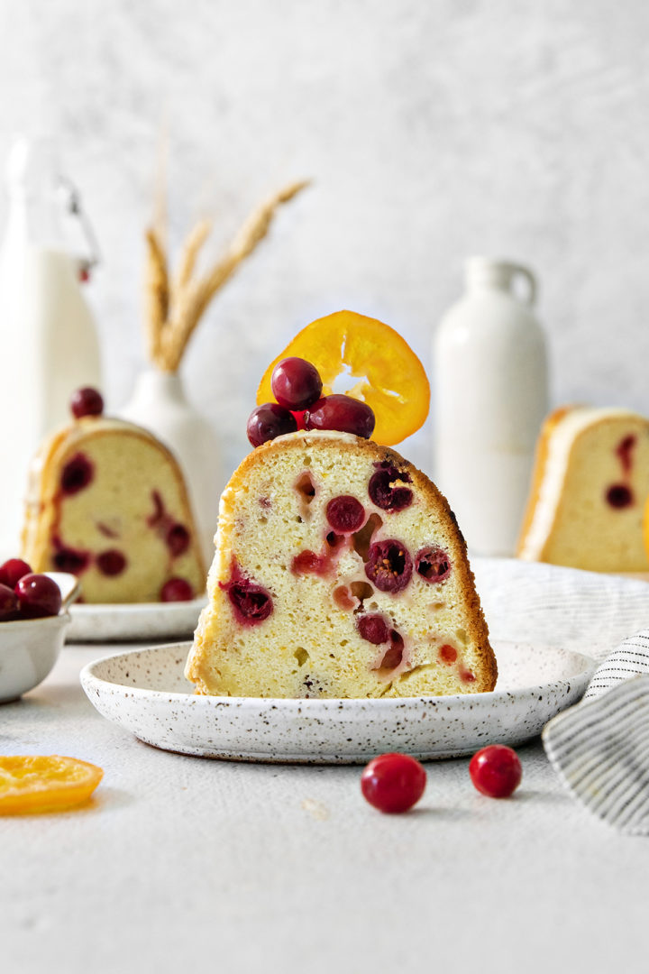
[[[194,635],[205,596],[191,602],[84,603],[70,609],[68,643],[119,643],[132,639],[186,639]]]

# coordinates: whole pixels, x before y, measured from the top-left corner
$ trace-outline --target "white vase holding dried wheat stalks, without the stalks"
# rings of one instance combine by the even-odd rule
[[[120,415],[155,433],[180,462],[209,565],[224,487],[216,432],[187,399],[180,376],[157,368],[149,368],[138,376]]]

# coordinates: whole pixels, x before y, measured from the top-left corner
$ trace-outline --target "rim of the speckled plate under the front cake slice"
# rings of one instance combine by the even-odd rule
[[[585,653],[581,653],[579,650],[572,650],[565,647],[560,647],[555,644],[544,644],[543,646],[537,646],[531,643],[513,639],[502,639],[493,640],[495,643],[508,643],[508,644],[518,644],[528,648],[533,648],[535,651],[551,649],[553,651],[560,651],[571,654],[571,656],[579,656],[584,661],[584,669],[581,669],[578,673],[573,674],[570,677],[563,677],[559,680],[552,681],[545,684],[534,684],[529,687],[522,687],[518,690],[491,690],[482,693],[447,693],[438,696],[360,696],[360,697],[284,697],[284,696],[216,696],[207,693],[180,693],[178,691],[163,691],[163,690],[148,690],[142,687],[133,687],[125,683],[112,683],[109,680],[103,680],[101,677],[96,676],[92,669],[94,666],[98,666],[103,662],[109,660],[115,661],[116,658],[124,659],[127,656],[139,656],[144,653],[160,653],[161,651],[170,651],[173,648],[181,647],[185,648],[185,652],[189,653],[189,649],[192,645],[190,640],[183,640],[177,643],[164,643],[159,646],[146,646],[141,649],[128,650],[126,653],[111,653],[105,656],[97,657],[96,659],[90,660],[82,667],[79,679],[86,691],[87,684],[99,684],[104,687],[115,688],[117,690],[127,691],[131,695],[142,696],[145,695],[147,698],[153,698],[154,700],[168,701],[170,703],[177,701],[187,701],[192,700],[194,705],[198,703],[198,706],[233,706],[233,707],[255,707],[259,709],[281,709],[281,710],[295,710],[299,712],[305,707],[307,710],[343,710],[343,709],[354,709],[355,707],[367,707],[372,706],[376,709],[379,705],[387,709],[394,709],[397,707],[402,707],[407,704],[420,703],[428,704],[431,706],[436,706],[439,703],[452,702],[455,705],[465,705],[473,704],[477,700],[480,701],[493,701],[494,699],[502,699],[507,695],[516,694],[518,699],[521,699],[522,695],[527,693],[529,695],[534,695],[539,691],[544,692],[549,688],[559,689],[569,684],[571,681],[577,679],[583,679],[584,677],[592,676],[595,668],[597,666],[597,661],[593,656],[587,656]]]

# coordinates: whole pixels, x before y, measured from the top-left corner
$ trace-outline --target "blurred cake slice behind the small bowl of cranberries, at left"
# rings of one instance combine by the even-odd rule
[[[151,433],[85,416],[55,432],[29,474],[22,557],[71,572],[86,602],[160,602],[204,591],[182,473]]]

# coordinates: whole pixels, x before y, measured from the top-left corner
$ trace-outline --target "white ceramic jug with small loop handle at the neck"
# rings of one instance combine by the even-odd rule
[[[466,293],[434,338],[434,476],[469,550],[512,555],[548,412],[536,281],[525,267],[486,257],[470,258],[465,273]]]

